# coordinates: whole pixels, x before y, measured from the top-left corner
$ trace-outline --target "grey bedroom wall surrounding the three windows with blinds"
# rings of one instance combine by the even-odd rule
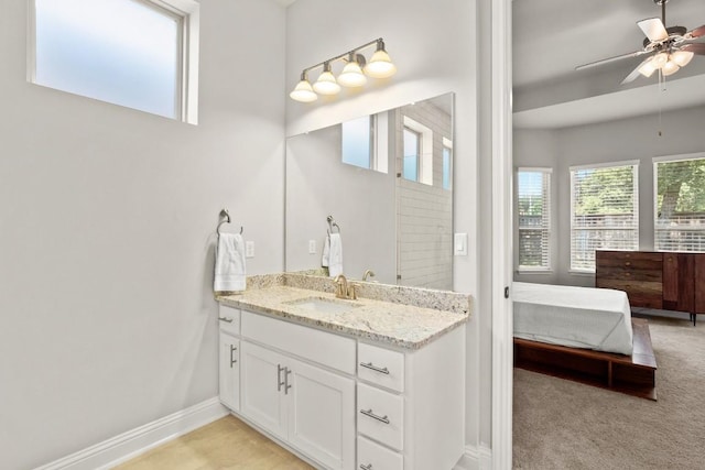
[[[655,85],[654,85],[655,87]],[[662,97],[668,99],[668,94]],[[681,155],[705,151],[702,121],[705,107],[642,116],[619,121],[581,125],[555,131],[521,130],[514,132],[516,165],[554,168],[553,186],[557,192],[555,219],[557,232],[557,272],[555,283],[594,286],[594,275],[568,273],[571,230],[570,167],[590,163],[639,160],[639,248],[653,250],[653,161],[654,156]],[[662,135],[659,135],[659,130]],[[549,151],[546,151],[549,149]],[[549,153],[553,149],[554,157]],[[522,276],[530,280],[531,275]],[[533,282],[533,280],[530,280]]]

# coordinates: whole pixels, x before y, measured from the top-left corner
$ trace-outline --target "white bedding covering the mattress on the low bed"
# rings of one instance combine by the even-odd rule
[[[631,356],[626,293],[519,282],[512,286],[516,338]]]

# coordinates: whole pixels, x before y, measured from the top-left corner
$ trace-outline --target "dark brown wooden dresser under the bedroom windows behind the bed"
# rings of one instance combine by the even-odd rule
[[[625,291],[632,307],[705,314],[705,253],[596,251],[595,286]]]

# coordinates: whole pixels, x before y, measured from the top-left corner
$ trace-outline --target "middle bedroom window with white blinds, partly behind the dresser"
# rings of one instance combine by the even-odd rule
[[[639,249],[639,162],[571,167],[571,271],[595,272],[595,250]]]

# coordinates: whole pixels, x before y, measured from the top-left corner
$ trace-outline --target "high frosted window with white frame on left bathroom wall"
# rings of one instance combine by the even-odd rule
[[[29,79],[195,123],[198,3],[32,0]]]

